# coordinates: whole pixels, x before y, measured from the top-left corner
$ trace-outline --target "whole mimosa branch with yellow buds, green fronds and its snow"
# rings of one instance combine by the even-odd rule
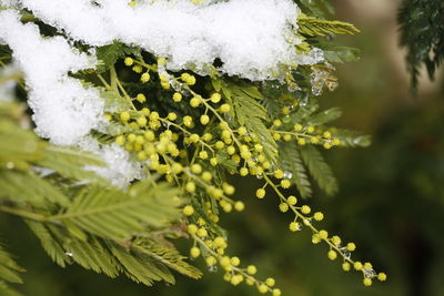
[[[307,17],[291,0],[0,3],[0,62],[14,62],[24,84],[4,80],[20,81],[36,132],[49,140],[4,121],[0,140],[16,134],[20,153],[0,149],[0,173],[17,184],[0,182],[0,212],[26,218],[60,266],[145,285],[173,283],[169,268],[199,278],[170,242],[183,237],[190,257],[231,284],[281,295],[274,278],[228,255],[219,225],[252,202],[239,200],[229,175],[252,175],[259,200],[273,192],[276,208],[292,213],[290,232],[310,231],[365,286],[385,280],[302,201],[310,175],[337,192],[320,150],[369,144],[329,124],[339,109],[319,111],[317,95],[336,85],[331,63],[355,59],[324,51],[323,37],[353,34],[352,24]]]

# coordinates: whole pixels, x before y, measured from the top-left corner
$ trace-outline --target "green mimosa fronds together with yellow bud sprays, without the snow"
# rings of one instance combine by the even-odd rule
[[[205,65],[209,75],[171,71],[167,58],[120,41],[93,48],[97,69],[70,75],[98,90],[104,101],[104,124],[89,136],[118,146],[129,155],[128,163],[141,167],[141,180],[124,188],[94,173],[105,165],[95,155],[39,139],[20,127],[20,121],[29,122],[23,108],[0,103],[0,212],[22,217],[61,267],[75,263],[147,286],[174,284],[171,271],[198,279],[202,273],[170,242],[183,237],[192,242],[192,258],[203,257],[210,269],[219,264],[233,285],[246,282],[279,296],[273,278],[260,280],[254,266],[240,267],[238,257],[226,255],[228,235],[219,224],[223,213],[245,207],[233,200],[228,174],[253,175],[264,183],[256,197],[273,191],[280,211],[293,214],[291,232],[305,228],[313,242],[329,248],[329,258],[340,256],[349,267],[360,266],[347,255],[354,244],[341,245],[339,236],[319,231],[315,223],[323,214],[311,213],[294,196],[310,197],[314,184],[329,195],[337,192],[319,149],[370,143],[365,135],[333,127],[341,110],[322,111],[319,100],[325,89],[337,85],[331,63],[357,59],[356,50],[322,37],[359,30],[324,20],[324,12],[332,12],[324,0],[300,2],[316,18],[299,16],[292,32],[301,40],[296,50],[313,60],[310,54],[317,48],[325,60],[280,64],[266,82],[226,76],[216,68],[219,61]],[[294,195],[286,196],[292,185]],[[355,269],[365,285],[385,279],[370,263]]]

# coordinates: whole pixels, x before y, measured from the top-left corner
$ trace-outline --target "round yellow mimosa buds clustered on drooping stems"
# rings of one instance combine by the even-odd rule
[[[329,245],[330,259],[342,256],[344,271],[350,271],[353,266],[362,272],[366,286],[372,284],[373,278],[385,280],[386,275],[376,274],[370,263],[361,266],[360,262],[351,259],[351,252],[355,248],[353,243],[342,246],[339,236],[330,236],[326,231],[315,228],[313,224],[324,218],[323,213],[312,213],[309,205],[299,204],[295,195],[285,196],[282,193],[282,190],[291,188],[292,176],[286,175],[268,157],[258,134],[251,133],[246,126],[229,123],[232,105],[220,91],[206,88],[203,93],[198,93],[194,91],[200,85],[196,76],[186,72],[179,75],[168,73],[167,60],[162,58],[154,64],[127,58],[124,64],[140,74],[141,83],[159,83],[161,95],[163,100],[170,100],[169,104],[178,105],[178,110],[190,110],[163,114],[152,103],[159,94],[139,92],[131,99],[121,86],[127,99],[131,103],[138,103],[132,104],[133,110],[109,115],[109,120],[125,127],[115,136],[119,145],[133,152],[149,171],[175,183],[190,197],[190,203],[182,208],[182,213],[188,224],[188,234],[194,242],[190,249],[192,258],[203,256],[210,269],[215,269],[219,263],[225,272],[224,278],[233,285],[244,282],[255,285],[260,293],[281,295],[281,290],[274,287],[273,278],[260,282],[253,277],[256,273],[253,265],[241,268],[238,257],[226,256],[226,238],[212,227],[220,220],[215,207],[225,213],[233,210],[241,212],[245,207],[243,202],[232,200],[234,187],[215,174],[220,165],[226,165],[226,170],[233,174],[255,175],[264,180],[264,185],[256,190],[255,196],[264,198],[268,187],[271,187],[280,198],[279,210],[294,213],[289,229],[311,229],[314,244],[324,242]],[[291,111],[283,109],[282,112],[287,114]],[[314,125],[287,126],[279,119],[272,122],[269,132],[275,141],[295,141],[299,145],[317,144],[324,149],[342,145],[332,131]],[[205,197],[194,198],[195,196]]]

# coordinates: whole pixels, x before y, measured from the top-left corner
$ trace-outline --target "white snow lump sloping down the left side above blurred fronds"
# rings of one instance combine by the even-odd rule
[[[24,74],[37,133],[54,144],[75,144],[99,125],[103,101],[98,90],[84,88],[68,72],[92,68],[94,60],[62,37],[43,39],[37,25],[22,24],[13,11],[0,12],[0,39]]]

